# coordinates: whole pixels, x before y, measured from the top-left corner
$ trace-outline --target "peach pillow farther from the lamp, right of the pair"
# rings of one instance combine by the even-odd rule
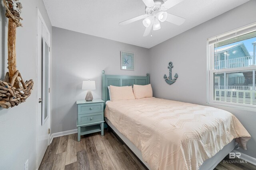
[[[144,86],[134,84],[133,93],[136,99],[153,97],[151,84],[144,85]]]

